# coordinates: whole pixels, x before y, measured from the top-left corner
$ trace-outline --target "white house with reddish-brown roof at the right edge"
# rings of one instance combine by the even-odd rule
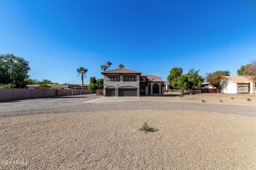
[[[222,93],[255,93],[256,78],[252,76],[224,76]]]

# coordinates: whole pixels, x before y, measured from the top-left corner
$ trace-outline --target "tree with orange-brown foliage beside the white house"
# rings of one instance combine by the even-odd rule
[[[216,72],[206,73],[206,81],[210,83],[211,86],[216,87],[218,92],[220,92],[220,88],[224,88],[226,86],[226,80],[223,76],[229,76],[230,72],[228,70],[218,70]]]

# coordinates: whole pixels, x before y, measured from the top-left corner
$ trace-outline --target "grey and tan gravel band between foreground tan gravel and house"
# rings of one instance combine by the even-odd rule
[[[101,96],[63,96],[55,98],[37,98],[27,100],[10,100],[0,102],[1,116],[31,115],[42,113],[63,113],[76,111],[100,111],[123,109],[182,109],[196,111],[213,111],[256,116],[256,98],[248,102],[246,98],[230,96],[193,95],[180,99],[177,96],[141,97],[141,101],[113,103],[82,103]],[[219,101],[219,98],[223,102]],[[202,99],[206,102],[203,103]]]

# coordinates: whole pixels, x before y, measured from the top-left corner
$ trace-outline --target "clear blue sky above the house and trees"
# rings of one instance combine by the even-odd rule
[[[255,0],[0,0],[0,53],[29,62],[31,78],[80,84],[100,66],[166,80],[182,67],[229,70],[256,59]]]

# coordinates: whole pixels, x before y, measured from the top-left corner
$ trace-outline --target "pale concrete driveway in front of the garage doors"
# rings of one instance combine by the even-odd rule
[[[93,100],[88,100],[82,103],[102,103],[102,102],[126,102],[126,101],[137,101],[140,97],[102,97]]]

